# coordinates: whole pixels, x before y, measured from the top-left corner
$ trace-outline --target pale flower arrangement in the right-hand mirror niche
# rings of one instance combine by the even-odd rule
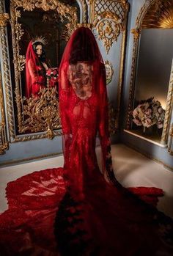
[[[154,97],[147,100],[141,100],[139,106],[132,111],[133,122],[136,125],[143,125],[149,128],[152,125],[157,125],[160,129],[163,127],[165,110],[162,108],[158,100]]]

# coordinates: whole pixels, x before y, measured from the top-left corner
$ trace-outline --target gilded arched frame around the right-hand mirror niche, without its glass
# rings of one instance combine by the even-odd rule
[[[132,122],[131,111],[133,110],[133,100],[134,100],[133,98],[134,98],[135,83],[136,83],[136,66],[137,66],[138,54],[139,54],[139,42],[140,42],[142,23],[144,21],[144,17],[146,13],[150,10],[153,4],[159,4],[158,0],[150,0],[145,2],[145,4],[141,7],[138,17],[136,18],[136,28],[131,29],[131,33],[133,34],[133,56],[132,56],[131,74],[130,74],[128,116],[126,120],[127,130],[130,130],[130,125]],[[145,20],[145,22],[146,21],[147,19]],[[165,26],[166,24],[163,24],[163,27]],[[144,27],[146,28],[146,26]],[[173,62],[172,62],[170,79],[169,79],[169,88],[168,88],[168,93],[166,98],[166,111],[165,111],[165,118],[163,123],[163,131],[161,135],[161,145],[167,145],[167,142],[168,142],[169,125],[170,125],[170,119],[172,114],[172,99],[173,99]],[[133,133],[133,131],[131,132]]]

